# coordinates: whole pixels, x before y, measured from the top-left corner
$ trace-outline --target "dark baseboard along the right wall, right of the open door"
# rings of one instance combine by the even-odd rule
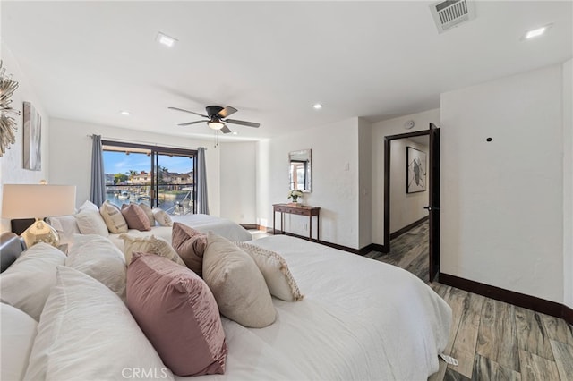
[[[518,307],[523,307],[524,309],[532,309],[546,315],[551,315],[552,317],[562,318],[569,324],[573,324],[573,309],[569,309],[569,307],[564,304],[555,301],[547,301],[535,296],[526,295],[525,293],[509,291],[500,287],[482,284],[470,281],[469,279],[460,278],[456,275],[444,273],[440,273],[438,282],[456,287],[460,290],[474,292],[497,301],[504,301]]]

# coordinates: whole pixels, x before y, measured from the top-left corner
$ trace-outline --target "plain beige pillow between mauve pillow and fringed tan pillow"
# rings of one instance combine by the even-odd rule
[[[218,309],[241,326],[262,328],[277,318],[265,279],[254,260],[231,241],[214,233],[207,236],[203,279]]]

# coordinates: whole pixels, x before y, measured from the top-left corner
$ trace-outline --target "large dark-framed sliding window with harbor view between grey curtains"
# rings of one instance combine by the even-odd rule
[[[106,199],[137,202],[171,215],[195,213],[197,151],[102,141]]]

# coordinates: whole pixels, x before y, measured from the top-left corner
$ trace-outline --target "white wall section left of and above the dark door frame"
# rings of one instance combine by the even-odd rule
[[[411,130],[404,129],[406,121],[413,120]],[[372,242],[384,244],[384,137],[400,133],[423,131],[430,123],[440,124],[440,109],[401,116],[372,124]],[[391,183],[391,182],[390,182]],[[392,211],[390,211],[390,216]]]

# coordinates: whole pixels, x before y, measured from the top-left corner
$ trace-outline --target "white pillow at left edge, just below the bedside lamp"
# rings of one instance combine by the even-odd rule
[[[0,298],[38,320],[56,284],[56,266],[64,262],[65,254],[54,246],[35,244],[0,275]]]

